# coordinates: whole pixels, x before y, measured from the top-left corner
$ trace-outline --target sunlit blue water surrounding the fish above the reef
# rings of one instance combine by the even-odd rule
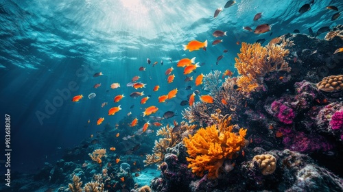
[[[133,117],[139,117],[144,108],[155,105],[159,108],[155,116],[172,110],[178,114],[174,119],[182,120],[184,107],[180,106],[180,101],[194,90],[186,91],[185,87],[195,86],[193,82],[185,83],[183,69],[176,67],[181,58],[196,57],[196,62],[205,63],[193,77],[212,70],[235,71],[234,58],[240,49],[237,41],[255,43],[265,38],[268,42],[294,29],[308,34],[309,27],[316,32],[320,27],[332,27],[343,21],[342,16],[331,21],[335,12],[325,9],[327,5],[336,5],[342,10],[340,0],[315,1],[304,14],[299,14],[298,9],[309,1],[238,0],[213,19],[215,10],[224,8],[225,3],[0,1],[0,110],[1,117],[11,116],[12,169],[36,171],[45,162],[54,163],[64,149],[104,130],[107,123],[115,125],[130,111]],[[252,21],[258,12],[263,12],[262,18]],[[255,29],[263,23],[272,25],[271,36],[270,32],[257,35],[242,29],[243,26]],[[212,33],[217,29],[227,31],[227,36],[222,38],[223,43],[212,47],[213,40],[218,39]],[[193,39],[208,40],[209,47],[206,51],[183,51],[182,44]],[[216,65],[224,49],[228,49],[228,53]],[[147,58],[158,64],[152,67],[147,64]],[[145,72],[139,71],[141,66],[146,67]],[[167,84],[164,73],[170,67],[174,67],[176,78]],[[100,71],[104,75],[93,77]],[[141,98],[129,97],[135,90],[126,84],[135,75],[147,84],[146,88],[138,90],[144,91],[145,96],[151,95],[147,104],[139,104]],[[114,82],[121,87],[110,89]],[[102,86],[93,88],[97,83]],[[157,84],[161,88],[154,93],[152,88]],[[178,97],[158,103],[158,96],[174,88],[179,90]],[[64,98],[58,91],[64,91]],[[97,96],[88,99],[90,93]],[[71,102],[73,96],[81,94],[84,95],[81,101]],[[119,94],[125,95],[119,102],[122,110],[108,116],[110,107],[119,106],[113,103],[113,97]],[[108,106],[101,108],[103,102],[108,102]],[[55,107],[51,108],[50,104]],[[130,109],[132,104],[134,108]],[[45,118],[37,114],[45,114]],[[95,125],[99,117],[105,120],[102,125]],[[91,123],[87,123],[88,119]],[[174,119],[169,119],[169,123]]]

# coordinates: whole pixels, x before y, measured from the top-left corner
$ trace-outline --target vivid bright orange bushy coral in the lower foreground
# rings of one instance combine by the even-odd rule
[[[246,130],[239,129],[238,134],[233,131],[234,125],[228,125],[229,117],[222,119],[222,125],[211,125],[206,129],[200,128],[193,136],[183,141],[187,147],[189,158],[188,167],[198,176],[208,171],[209,178],[217,178],[218,171],[224,160],[235,158],[237,152],[244,147]]]

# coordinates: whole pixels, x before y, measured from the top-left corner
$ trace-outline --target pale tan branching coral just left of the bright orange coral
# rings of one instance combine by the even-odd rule
[[[176,126],[176,125],[175,125]],[[161,164],[165,158],[165,154],[167,154],[168,147],[174,147],[177,143],[182,141],[182,136],[180,132],[184,132],[185,130],[191,130],[194,128],[194,125],[188,125],[187,123],[181,123],[178,131],[175,131],[175,127],[169,126],[169,124],[160,130],[157,131],[157,136],[163,136],[163,138],[159,139],[158,141],[155,140],[155,146],[152,149],[153,154],[147,154],[145,156],[145,166],[152,165],[152,164]],[[173,131],[174,130],[174,131]]]

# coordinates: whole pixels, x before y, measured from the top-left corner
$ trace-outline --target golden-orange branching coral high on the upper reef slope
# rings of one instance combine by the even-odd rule
[[[285,57],[288,56],[289,50],[285,46],[292,45],[285,38],[281,39],[280,45],[268,44],[262,47],[259,43],[241,44],[241,53],[235,58],[235,67],[241,75],[237,80],[237,85],[243,92],[254,91],[263,83],[263,77],[273,71],[291,70]]]

